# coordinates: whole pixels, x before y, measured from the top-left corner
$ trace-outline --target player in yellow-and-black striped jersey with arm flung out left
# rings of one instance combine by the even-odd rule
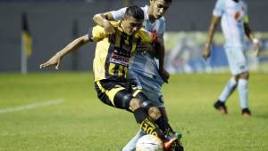
[[[154,34],[141,28],[143,20],[144,12],[136,5],[130,6],[121,21],[111,22],[116,29],[114,34],[107,34],[105,28],[100,26],[90,28],[88,35],[81,36],[65,46],[50,60],[41,64],[40,68],[55,66],[59,69],[64,55],[89,41],[97,42],[93,63],[97,97],[109,106],[132,112],[139,127],[147,134],[163,139],[163,147],[167,150],[177,138],[163,134],[169,124],[159,120],[163,119],[159,109],[152,104],[144,103],[148,102],[147,97],[126,78],[130,57],[135,55],[137,45],[157,43]]]

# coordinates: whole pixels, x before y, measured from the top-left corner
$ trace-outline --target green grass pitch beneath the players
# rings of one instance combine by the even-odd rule
[[[163,86],[170,121],[187,151],[268,150],[268,75],[251,75],[248,118],[240,113],[238,91],[227,102],[229,115],[214,110],[228,79],[176,75]],[[53,99],[63,102],[25,107]],[[96,98],[91,73],[0,74],[1,151],[119,151],[136,131],[133,115]]]

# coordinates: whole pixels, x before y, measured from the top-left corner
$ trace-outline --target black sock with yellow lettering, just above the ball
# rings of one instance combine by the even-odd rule
[[[142,131],[147,134],[155,135],[160,139],[165,139],[163,131],[161,131],[155,122],[148,117],[142,107],[139,107],[134,111],[134,116]]]

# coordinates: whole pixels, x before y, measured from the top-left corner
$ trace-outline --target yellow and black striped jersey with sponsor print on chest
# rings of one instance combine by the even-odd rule
[[[155,36],[140,28],[133,35],[127,35],[121,28],[121,21],[111,22],[115,27],[113,35],[105,34],[105,28],[95,26],[90,28],[88,36],[96,43],[93,62],[95,82],[103,79],[126,81],[130,57],[135,54],[139,43],[153,43]]]

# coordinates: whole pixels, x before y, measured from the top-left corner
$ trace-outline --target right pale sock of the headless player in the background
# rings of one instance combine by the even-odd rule
[[[247,108],[247,85],[248,81],[246,79],[239,79],[238,90],[241,108]]]

